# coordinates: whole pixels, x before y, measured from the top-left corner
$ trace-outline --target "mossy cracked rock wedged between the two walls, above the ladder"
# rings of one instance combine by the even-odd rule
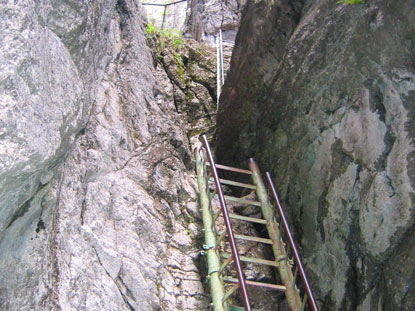
[[[183,115],[189,136],[216,124],[215,50],[206,44],[187,39],[174,50],[167,44],[155,58],[172,85],[175,107]]]

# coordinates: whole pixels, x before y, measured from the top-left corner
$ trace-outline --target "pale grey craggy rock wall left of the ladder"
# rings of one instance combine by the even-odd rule
[[[189,143],[142,12],[1,5],[1,310],[206,308]]]

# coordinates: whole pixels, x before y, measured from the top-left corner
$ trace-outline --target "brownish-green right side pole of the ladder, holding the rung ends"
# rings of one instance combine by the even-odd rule
[[[295,287],[295,279],[291,270],[291,265],[288,262],[287,252],[284,247],[284,243],[281,240],[280,230],[274,217],[274,211],[269,201],[268,192],[265,188],[265,184],[262,181],[261,173],[258,165],[254,159],[249,159],[249,169],[252,172],[252,180],[255,184],[256,194],[258,200],[261,202],[261,211],[264,219],[267,221],[267,230],[269,237],[274,241],[272,245],[272,251],[274,257],[278,261],[278,272],[281,277],[281,281],[286,288],[285,295],[287,297],[287,303],[291,311],[301,310],[301,298],[298,290]]]

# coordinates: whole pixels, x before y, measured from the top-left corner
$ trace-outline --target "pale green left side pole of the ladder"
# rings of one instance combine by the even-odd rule
[[[203,228],[205,232],[205,245],[203,248],[206,251],[208,263],[208,278],[210,285],[210,293],[212,296],[214,311],[227,311],[226,306],[223,306],[223,298],[225,290],[223,282],[220,278],[220,258],[216,250],[216,235],[213,226],[213,217],[210,212],[211,201],[208,193],[208,177],[206,173],[206,163],[201,150],[195,150],[196,158],[196,174],[199,185],[199,201],[202,209]]]

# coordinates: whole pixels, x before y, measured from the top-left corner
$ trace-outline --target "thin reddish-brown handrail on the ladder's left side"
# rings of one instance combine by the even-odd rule
[[[251,311],[252,309],[251,309],[251,302],[250,302],[249,296],[248,296],[248,289],[247,289],[247,286],[246,286],[245,277],[244,277],[243,272],[242,272],[242,265],[241,265],[241,261],[239,259],[239,252],[238,252],[238,249],[236,247],[235,237],[234,237],[234,234],[233,234],[233,231],[232,231],[232,224],[231,224],[231,220],[230,220],[230,217],[229,217],[228,209],[226,207],[225,198],[223,196],[223,190],[222,190],[222,186],[220,184],[219,175],[218,175],[218,172],[216,170],[215,161],[213,160],[212,151],[210,150],[209,142],[207,140],[206,135],[203,135],[202,139],[203,139],[203,146],[205,148],[206,154],[207,154],[209,162],[210,162],[210,167],[211,167],[211,170],[212,170],[213,179],[215,180],[217,195],[218,195],[219,203],[220,203],[220,206],[221,206],[221,209],[222,209],[226,230],[228,232],[229,244],[230,244],[230,247],[231,247],[231,250],[232,250],[232,256],[233,256],[233,259],[234,259],[234,262],[235,262],[236,273],[237,273],[238,280],[239,280],[239,286],[240,286],[241,292],[242,292],[242,299],[243,299],[243,302],[244,302],[245,310],[246,311]]]

